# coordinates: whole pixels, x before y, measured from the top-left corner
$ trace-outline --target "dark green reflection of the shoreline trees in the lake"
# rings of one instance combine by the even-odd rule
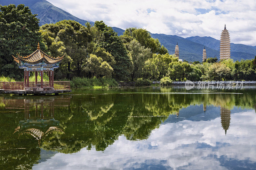
[[[5,113],[0,118],[3,125],[0,129],[0,147],[11,148],[1,155],[1,159],[5,160],[1,166],[15,162],[11,157],[19,155],[24,156],[24,159],[13,163],[13,167],[18,164],[32,166],[40,159],[39,139],[40,147],[45,150],[73,153],[84,147],[88,150],[95,147],[97,151],[104,151],[120,135],[129,140],[147,139],[151,131],[158,128],[169,115],[179,119],[179,110],[190,105],[204,104],[202,111],[206,110],[207,105],[221,107],[221,125],[225,131],[229,128],[231,108],[255,107],[255,96],[250,93],[114,93],[74,95],[71,99],[63,96],[38,98],[0,97],[0,107]],[[15,116],[11,114],[13,111],[20,114]],[[49,128],[53,129],[50,131]],[[13,134],[15,129],[19,132]],[[19,133],[23,135],[19,137]],[[23,147],[31,149],[17,149]],[[25,150],[27,156],[23,155]],[[31,155],[34,155],[33,158]]]

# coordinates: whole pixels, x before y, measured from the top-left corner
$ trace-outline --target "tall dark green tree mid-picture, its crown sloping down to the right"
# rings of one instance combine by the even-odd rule
[[[94,26],[100,31],[104,41],[99,42],[99,46],[106,49],[115,59],[116,64],[113,66],[114,78],[125,80],[131,74],[132,60],[128,55],[123,41],[117,36],[117,33],[107,26],[103,21],[95,21]]]

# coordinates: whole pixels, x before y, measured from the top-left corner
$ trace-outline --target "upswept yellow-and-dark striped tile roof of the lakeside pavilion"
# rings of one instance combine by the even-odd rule
[[[37,50],[35,52],[33,52],[32,54],[26,56],[26,57],[22,57],[18,54],[18,57],[14,57],[13,56],[13,59],[15,62],[17,62],[18,64],[22,62],[24,63],[40,63],[40,62],[43,62],[44,63],[48,63],[48,64],[54,64],[54,63],[59,63],[61,60],[63,60],[63,57],[51,57],[47,54],[45,54],[42,50],[40,50],[40,46],[39,46],[39,43],[37,45]]]

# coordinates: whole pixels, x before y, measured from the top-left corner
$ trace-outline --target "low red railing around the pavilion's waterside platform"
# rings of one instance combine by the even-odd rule
[[[49,91],[70,90],[69,81],[54,82],[0,82],[0,89],[4,91]]]

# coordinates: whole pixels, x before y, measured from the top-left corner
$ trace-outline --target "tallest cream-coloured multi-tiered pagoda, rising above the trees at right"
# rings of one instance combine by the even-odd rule
[[[230,58],[230,38],[226,24],[224,30],[220,34],[220,60]]]

